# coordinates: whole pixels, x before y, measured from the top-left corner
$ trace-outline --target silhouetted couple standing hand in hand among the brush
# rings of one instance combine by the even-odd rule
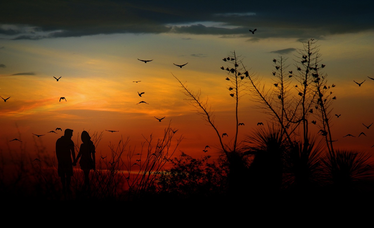
[[[80,168],[85,175],[84,189],[90,189],[89,173],[95,170],[95,145],[91,141],[87,131],[83,131],[80,138],[82,144],[79,148],[77,157],[74,151],[74,142],[71,140],[73,130],[65,129],[64,135],[56,141],[56,157],[58,162],[57,173],[61,179],[62,192],[71,193],[70,182],[73,176],[73,166],[77,165],[79,160]]]

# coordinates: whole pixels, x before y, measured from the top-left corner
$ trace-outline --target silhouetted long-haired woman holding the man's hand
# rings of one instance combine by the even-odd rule
[[[82,131],[80,139],[82,140],[82,144],[80,145],[79,153],[76,160],[74,161],[74,164],[76,164],[78,159],[80,158],[79,165],[83,170],[83,173],[85,174],[84,189],[86,189],[87,187],[88,189],[90,189],[90,170],[95,170],[95,145],[93,145],[91,137],[89,136],[87,131]]]

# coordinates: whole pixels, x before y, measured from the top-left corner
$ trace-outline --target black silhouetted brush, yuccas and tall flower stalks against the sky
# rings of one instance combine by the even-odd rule
[[[50,157],[43,145],[35,142],[37,159],[30,158],[22,145],[19,151],[0,149],[2,197],[46,201],[253,200],[263,196],[355,197],[373,193],[370,155],[333,147],[331,110],[336,97],[331,90],[335,85],[329,85],[327,74],[322,72],[325,65],[315,43],[313,39],[302,42],[292,67],[286,58],[274,58],[270,86],[249,73],[235,51],[223,58],[227,95],[233,98],[236,114],[230,145],[223,143],[224,134],[215,125],[214,113],[208,101],[200,97],[200,90],[191,91],[173,75],[186,100],[217,134],[221,156],[215,161],[210,161],[209,155],[193,158],[183,151],[175,156],[183,137],[173,144],[175,132],[169,123],[157,142],[152,135],[144,137],[140,150],[131,148],[129,138],[110,144],[107,156],[96,154],[96,170],[90,173],[91,191],[82,187],[83,173],[74,171],[73,195],[64,195],[55,155]],[[239,101],[245,102],[246,97],[257,102],[269,121],[258,124],[253,132],[239,134]],[[92,134],[95,147],[101,138],[102,133]]]

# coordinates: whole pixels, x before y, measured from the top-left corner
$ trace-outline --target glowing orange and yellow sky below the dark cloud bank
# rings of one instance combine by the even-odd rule
[[[3,24],[1,28],[7,26]],[[244,28],[247,32],[251,27]],[[0,65],[3,66],[0,67],[0,95],[10,98],[0,101],[1,152],[19,150],[20,142],[9,142],[17,138],[30,154],[36,153],[35,145],[41,145],[53,155],[55,142],[65,128],[74,130],[72,139],[78,145],[77,135],[83,130],[102,132],[96,152],[103,156],[108,152],[108,145],[119,143],[121,137],[129,137],[129,145],[136,151],[144,137],[152,134],[157,141],[170,123],[172,129],[178,129],[175,140],[180,136],[184,138],[176,156],[184,151],[194,157],[207,154],[217,157],[217,135],[185,100],[187,97],[173,75],[194,92],[201,90],[200,98],[208,99],[216,126],[220,134],[229,135],[223,138],[224,143],[229,144],[236,128],[235,103],[227,90],[226,72],[220,69],[226,67],[222,58],[236,51],[250,73],[261,77],[261,83],[269,86],[274,71],[272,60],[280,56],[288,58],[288,69],[295,70],[296,49],[302,48],[297,35],[261,37],[265,30],[269,33],[269,27],[263,25],[257,27],[255,34],[248,32],[230,37],[168,32],[33,40],[10,39],[3,35],[0,40],[0,64],[3,64]],[[259,39],[254,39],[255,36]],[[336,85],[337,100],[331,106],[331,114],[341,114],[332,121],[332,135],[338,140],[335,149],[373,152],[374,127],[366,129],[363,125],[374,122],[374,81],[368,78],[374,77],[373,30],[317,36],[322,63],[326,64],[324,72],[329,84]],[[310,38],[315,37],[307,39]],[[281,53],[288,48],[294,51]],[[143,63],[138,58],[153,61]],[[179,68],[173,63],[188,64]],[[56,81],[53,76],[61,76],[61,79]],[[353,80],[366,81],[358,86]],[[145,93],[139,97],[138,92]],[[65,97],[66,101],[59,101],[60,97]],[[140,101],[148,104],[137,104]],[[251,134],[258,127],[257,122],[269,120],[255,105],[250,95],[240,99],[239,122],[245,125],[239,128],[239,140]],[[164,116],[162,122],[155,118]],[[56,131],[58,127],[62,132]],[[52,130],[57,134],[48,133]],[[358,137],[362,131],[367,136]],[[318,129],[313,133],[317,132]],[[33,133],[45,136],[36,137]],[[356,137],[343,137],[346,134]],[[204,153],[206,145],[211,149]]]

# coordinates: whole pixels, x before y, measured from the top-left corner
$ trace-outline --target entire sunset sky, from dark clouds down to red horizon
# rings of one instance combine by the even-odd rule
[[[0,100],[0,149],[22,144],[33,153],[37,143],[53,155],[56,140],[70,128],[79,144],[83,130],[102,132],[96,148],[102,155],[121,137],[140,150],[144,138],[152,134],[156,143],[170,123],[178,130],[174,142],[184,137],[177,152],[217,156],[217,134],[185,100],[173,75],[192,91],[201,90],[229,144],[235,103],[222,59],[235,51],[251,74],[272,85],[272,60],[288,58],[288,70],[296,70],[301,41],[315,39],[328,84],[336,85],[335,149],[374,152],[374,125],[363,125],[374,122],[374,80],[368,78],[374,78],[373,6],[370,1],[7,1],[0,14],[0,95],[10,98]],[[358,86],[353,80],[366,81]],[[256,105],[249,95],[240,99],[239,122],[245,125],[239,140],[258,128],[257,122],[267,126],[270,116]],[[164,116],[161,122],[155,118]],[[48,133],[52,130],[57,134]],[[366,136],[358,137],[361,132]],[[347,134],[356,137],[343,137]],[[22,143],[9,142],[15,138]],[[206,145],[211,149],[204,153]]]

